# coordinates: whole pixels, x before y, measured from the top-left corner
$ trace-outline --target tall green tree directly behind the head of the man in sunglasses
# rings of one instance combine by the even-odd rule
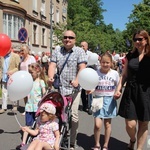
[[[100,42],[99,25],[103,23],[104,11],[101,0],[69,0],[67,29],[73,30],[77,35],[77,45],[86,40],[89,47],[94,50]]]

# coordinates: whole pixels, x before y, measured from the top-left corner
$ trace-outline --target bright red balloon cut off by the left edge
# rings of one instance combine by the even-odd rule
[[[0,56],[5,56],[11,48],[11,40],[6,34],[0,34]]]

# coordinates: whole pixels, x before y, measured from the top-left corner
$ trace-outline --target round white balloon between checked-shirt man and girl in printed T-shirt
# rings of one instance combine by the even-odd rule
[[[92,68],[85,68],[79,72],[78,81],[85,90],[93,90],[99,83],[99,76]]]

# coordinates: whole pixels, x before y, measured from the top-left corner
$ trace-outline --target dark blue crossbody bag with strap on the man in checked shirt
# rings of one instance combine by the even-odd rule
[[[61,85],[61,82],[60,82],[60,74],[61,74],[62,70],[64,69],[66,63],[67,63],[70,54],[71,54],[71,52],[70,52],[69,55],[67,56],[67,58],[66,58],[66,60],[65,60],[65,62],[64,62],[64,64],[63,64],[63,66],[62,66],[60,72],[57,71],[57,73],[54,75],[53,87],[54,87],[55,89],[59,89],[59,86]]]

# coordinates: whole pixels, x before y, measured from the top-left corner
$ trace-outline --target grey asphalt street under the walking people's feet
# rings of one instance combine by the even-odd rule
[[[24,116],[21,115],[24,110],[24,101],[20,100],[19,102],[20,107],[17,111],[17,118],[21,125],[24,125]],[[11,111],[11,105],[8,105],[8,108],[9,109],[5,114],[0,115],[0,150],[15,150],[16,146],[21,143],[22,133],[14,117],[14,113]],[[90,150],[90,148],[94,145],[93,117],[83,111],[79,111],[79,115],[80,122],[77,136],[77,150]],[[101,145],[103,143],[103,139],[104,130],[102,130],[101,133]],[[112,135],[109,150],[126,150],[128,142],[129,138],[125,131],[124,119],[118,116],[112,120]],[[146,143],[144,150],[149,149],[147,148]]]

